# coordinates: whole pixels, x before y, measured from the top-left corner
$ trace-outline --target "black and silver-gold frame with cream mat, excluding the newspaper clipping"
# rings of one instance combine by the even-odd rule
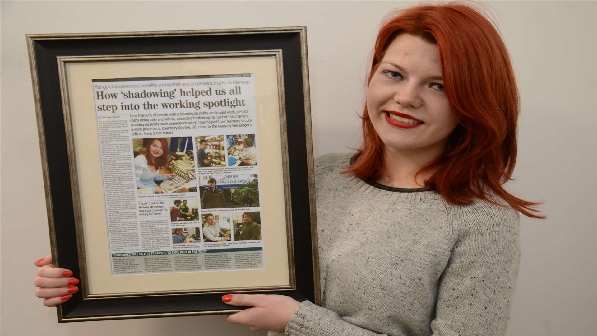
[[[73,277],[81,279],[81,291],[57,307],[58,322],[229,314],[244,308],[224,304],[220,297],[229,293],[281,294],[298,301],[310,300],[321,304],[305,27],[32,34],[26,38],[53,264],[54,267],[72,270]],[[262,131],[263,127],[267,130],[261,133],[278,136],[277,145],[276,140],[266,143],[273,143],[272,148],[279,149],[275,149],[273,154],[260,154],[260,160],[275,158],[274,161],[278,162],[282,183],[272,181],[269,185],[278,185],[275,193],[282,196],[278,197],[278,201],[282,202],[282,206],[278,207],[281,214],[278,215],[284,220],[279,232],[276,231],[279,239],[263,241],[266,260],[268,251],[284,250],[284,253],[276,254],[285,255],[286,260],[279,261],[279,265],[285,267],[265,268],[282,274],[281,279],[288,279],[287,283],[235,285],[235,280],[230,280],[234,276],[226,275],[220,278],[225,281],[214,280],[226,285],[197,289],[181,285],[197,283],[196,277],[179,282],[183,277],[181,273],[123,277],[109,274],[105,253],[108,244],[106,220],[105,217],[94,216],[94,207],[90,206],[90,203],[100,201],[100,198],[94,198],[94,194],[103,194],[97,193],[98,188],[93,187],[101,184],[102,179],[97,173],[101,170],[93,164],[100,161],[97,135],[90,136],[91,129],[86,129],[90,123],[85,118],[95,114],[85,112],[90,105],[81,100],[88,100],[93,92],[89,90],[91,83],[87,83],[87,75],[80,79],[76,74],[105,71],[108,77],[101,78],[127,78],[130,77],[128,74],[143,74],[143,78],[172,74],[183,78],[194,75],[196,69],[211,74],[217,66],[205,63],[207,60],[223,63],[222,69],[250,71],[254,69],[251,68],[253,61],[260,60],[274,70],[271,73],[275,74],[275,78],[260,82],[269,89],[263,91],[259,87],[261,84],[257,85],[257,91],[263,92],[257,94],[256,99],[273,99],[272,102],[277,105],[275,118],[261,118],[263,125],[260,127]],[[124,71],[122,65],[125,65]],[[184,71],[180,70],[183,68]],[[255,69],[259,71],[259,68]],[[116,77],[110,77],[110,73],[116,74]],[[259,101],[257,103],[260,104]],[[267,111],[270,110],[273,111]],[[267,111],[259,112],[261,117],[267,115]],[[268,116],[271,115],[270,112]],[[93,127],[97,128],[96,125]],[[275,132],[270,132],[275,129]],[[95,143],[96,149],[85,147],[85,143]],[[263,197],[263,193],[261,195]],[[266,201],[262,203],[267,204]],[[266,214],[275,212],[272,207],[261,210]],[[306,225],[307,222],[309,225]],[[269,241],[282,243],[270,248]],[[276,258],[272,256],[270,259]],[[108,271],[102,268],[106,265]],[[242,274],[257,271],[214,274],[235,272],[244,278]],[[202,275],[201,272],[198,274]],[[259,280],[259,277],[256,273],[256,279]],[[125,280],[118,280],[120,282],[116,281],[106,288],[125,288],[122,291],[97,289],[103,288],[104,282],[113,282],[116,278]],[[126,280],[129,278],[134,280]],[[156,288],[166,283],[171,288],[151,289],[151,285],[147,285],[150,289],[145,289],[139,283],[157,283]]]

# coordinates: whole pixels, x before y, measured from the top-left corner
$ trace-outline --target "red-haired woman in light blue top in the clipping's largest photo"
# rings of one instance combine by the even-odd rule
[[[135,177],[137,189],[150,188],[152,193],[160,194],[164,190],[155,183],[173,179],[175,174],[160,174],[160,169],[168,168],[168,141],[166,138],[153,138],[147,141],[143,154],[135,157]]]

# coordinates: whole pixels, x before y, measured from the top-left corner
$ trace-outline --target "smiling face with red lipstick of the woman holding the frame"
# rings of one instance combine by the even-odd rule
[[[444,151],[458,121],[441,74],[437,45],[407,33],[390,43],[367,89],[367,111],[384,145]]]

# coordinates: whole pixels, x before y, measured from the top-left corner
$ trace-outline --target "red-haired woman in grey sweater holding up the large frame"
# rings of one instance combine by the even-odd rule
[[[537,203],[502,187],[516,162],[518,108],[506,48],[478,11],[420,5],[387,19],[364,142],[316,162],[322,307],[224,295],[253,306],[229,322],[288,335],[504,335],[518,212],[541,218]],[[59,304],[69,277],[44,269],[38,279],[61,278],[60,288],[38,296]]]

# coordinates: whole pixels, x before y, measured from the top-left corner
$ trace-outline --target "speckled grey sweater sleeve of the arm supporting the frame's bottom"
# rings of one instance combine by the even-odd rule
[[[430,323],[432,336],[506,334],[520,258],[519,216],[511,209],[478,203],[461,207],[456,215],[453,252],[439,279],[436,315]],[[385,335],[353,325],[309,301],[294,312],[285,334]]]

